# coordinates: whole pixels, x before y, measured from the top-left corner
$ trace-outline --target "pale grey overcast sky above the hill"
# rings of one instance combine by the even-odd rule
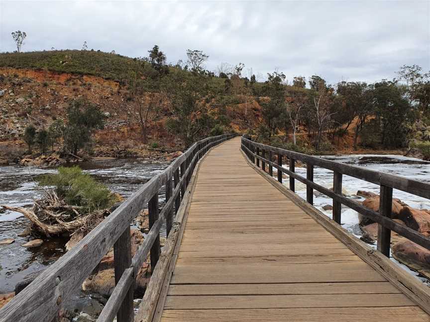
[[[27,33],[23,51],[89,49],[147,56],[154,44],[167,61],[187,49],[210,58],[207,69],[245,64],[260,80],[275,69],[373,82],[399,67],[430,69],[430,1],[5,1],[0,51],[10,33]],[[249,71],[248,71],[249,72]]]

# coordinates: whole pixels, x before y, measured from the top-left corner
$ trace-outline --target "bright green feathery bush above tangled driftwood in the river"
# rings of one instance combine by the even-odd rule
[[[43,175],[38,183],[52,186],[66,204],[81,206],[86,213],[109,208],[117,201],[105,185],[83,173],[79,166],[60,166],[57,174]]]

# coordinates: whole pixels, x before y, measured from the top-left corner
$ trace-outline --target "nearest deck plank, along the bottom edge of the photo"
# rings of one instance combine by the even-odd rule
[[[371,317],[371,318],[369,318]],[[429,322],[417,307],[165,310],[162,322]]]

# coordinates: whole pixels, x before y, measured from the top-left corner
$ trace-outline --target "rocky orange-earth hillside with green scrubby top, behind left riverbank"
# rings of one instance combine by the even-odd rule
[[[140,68],[141,62],[131,58],[93,51],[0,54],[0,163],[16,162],[23,156],[22,136],[29,123],[49,126],[64,118],[70,101],[80,97],[98,105],[106,116],[105,128],[95,135],[95,156],[146,157],[157,150],[183,149],[166,130],[166,101],[149,124],[147,144],[142,144],[136,102],[121,83],[125,74],[140,72]],[[223,86],[223,81],[212,78],[215,87]],[[239,132],[247,130],[245,119],[255,125],[260,117],[260,107],[252,97],[227,95],[212,112],[221,108],[230,122],[228,127]]]

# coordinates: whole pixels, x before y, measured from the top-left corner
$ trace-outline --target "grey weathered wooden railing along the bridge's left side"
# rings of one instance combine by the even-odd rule
[[[153,270],[160,256],[160,228],[172,219],[190,182],[197,162],[209,149],[234,134],[210,137],[194,143],[163,172],[155,175],[115,209],[83,240],[40,274],[0,310],[0,322],[51,322],[62,303],[70,299],[113,246],[115,288],[98,322],[133,320],[134,281],[148,254]],[[165,186],[166,203],[159,212],[158,191]],[[131,257],[130,223],[148,205],[149,233]]]

